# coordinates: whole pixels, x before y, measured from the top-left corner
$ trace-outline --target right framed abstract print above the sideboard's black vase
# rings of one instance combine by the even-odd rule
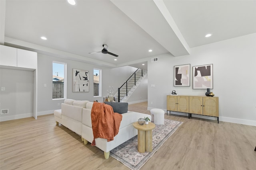
[[[193,66],[193,89],[213,88],[213,64]]]

